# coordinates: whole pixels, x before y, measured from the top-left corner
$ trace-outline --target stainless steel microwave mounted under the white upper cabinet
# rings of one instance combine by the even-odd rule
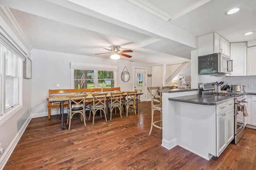
[[[198,56],[198,74],[225,75],[233,71],[233,61],[223,53]]]

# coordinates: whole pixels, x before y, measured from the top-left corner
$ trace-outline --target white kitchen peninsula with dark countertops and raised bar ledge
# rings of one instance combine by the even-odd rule
[[[166,149],[179,145],[210,160],[219,156],[234,139],[234,98],[203,96],[197,94],[197,89],[159,92],[162,92],[163,106],[162,146]],[[219,128],[222,122],[218,113],[227,121],[226,127],[221,127],[227,130],[224,134],[219,134],[223,129]]]

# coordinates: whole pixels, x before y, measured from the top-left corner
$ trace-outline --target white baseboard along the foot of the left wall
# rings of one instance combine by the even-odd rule
[[[25,121],[25,123],[22,125],[22,127],[20,128],[20,130],[18,131],[18,133],[16,134],[16,136],[10,143],[9,147],[6,150],[4,150],[4,153],[3,153],[2,157],[0,158],[0,170],[2,170],[4,168],[6,162],[10,158],[13,150],[15,149],[16,145],[18,144],[18,141],[22,137],[22,135],[31,119],[32,119],[31,116],[28,117],[28,119]]]

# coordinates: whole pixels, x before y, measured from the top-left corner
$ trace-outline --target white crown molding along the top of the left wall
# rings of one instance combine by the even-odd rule
[[[12,13],[12,10],[9,7],[5,7],[5,6],[2,6],[2,5],[0,5],[0,9],[4,13],[4,15],[6,16],[8,21],[10,21],[10,23],[16,29],[16,31],[18,32],[18,34],[20,35],[20,37],[22,38],[24,43],[26,43],[26,46],[28,47],[28,49],[31,51],[32,47],[31,47],[30,43],[28,42],[28,39],[26,38],[25,33],[22,31],[22,28],[20,27],[20,24],[18,23],[14,14]]]

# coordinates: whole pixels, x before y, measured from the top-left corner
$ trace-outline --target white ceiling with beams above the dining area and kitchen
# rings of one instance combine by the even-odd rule
[[[164,21],[128,2],[149,2],[171,15]],[[108,59],[120,45],[146,64],[190,59],[197,37],[216,32],[230,42],[256,40],[256,0],[0,0],[10,7],[31,49]],[[231,8],[241,10],[233,15]],[[181,58],[182,57],[182,58]]]

